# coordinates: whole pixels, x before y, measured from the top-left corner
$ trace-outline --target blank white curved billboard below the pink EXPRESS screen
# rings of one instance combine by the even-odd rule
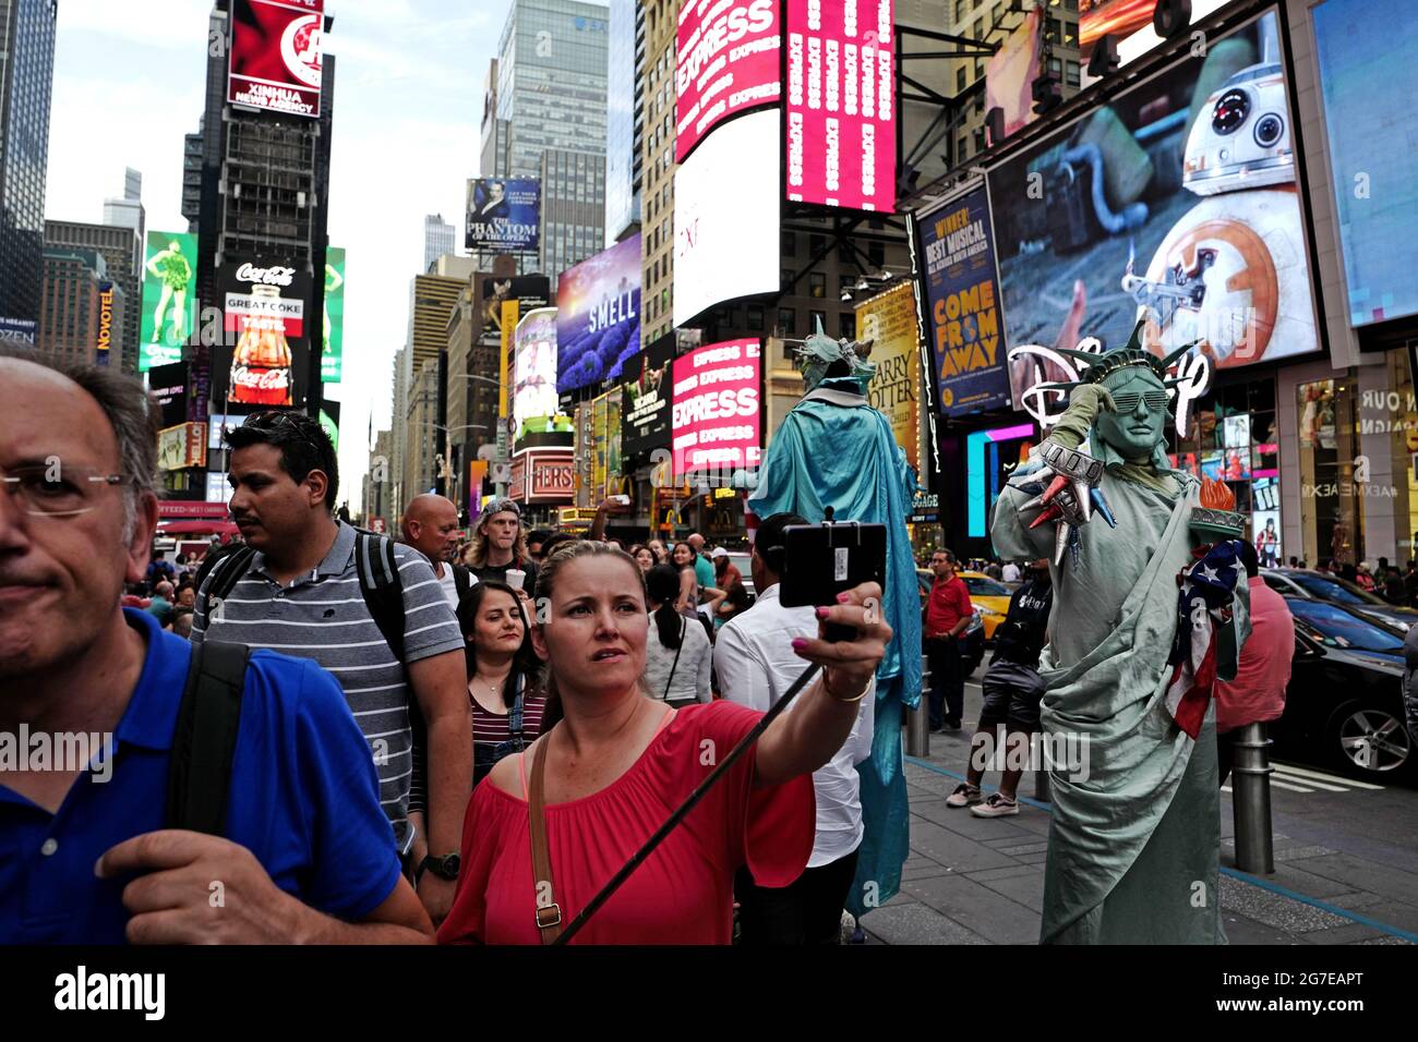
[[[675,172],[674,325],[725,301],[778,292],[777,111],[720,126]]]

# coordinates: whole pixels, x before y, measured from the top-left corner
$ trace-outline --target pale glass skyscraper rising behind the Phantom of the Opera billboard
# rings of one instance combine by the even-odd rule
[[[513,0],[489,71],[482,176],[546,177],[539,262],[553,281],[605,245],[608,43],[601,4]]]

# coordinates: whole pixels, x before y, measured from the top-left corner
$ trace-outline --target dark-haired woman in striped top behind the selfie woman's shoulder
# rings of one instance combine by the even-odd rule
[[[546,695],[516,590],[495,580],[476,583],[458,603],[458,627],[468,642],[476,785],[501,758],[520,753],[542,733]]]

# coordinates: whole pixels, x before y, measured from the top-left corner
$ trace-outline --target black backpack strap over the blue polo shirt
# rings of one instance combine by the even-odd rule
[[[224,641],[191,651],[167,771],[167,828],[221,835],[225,827],[250,654]]]

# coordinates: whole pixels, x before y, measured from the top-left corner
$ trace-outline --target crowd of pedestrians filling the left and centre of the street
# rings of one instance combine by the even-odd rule
[[[756,601],[699,536],[627,551],[513,500],[459,547],[418,496],[393,540],[336,516],[316,422],[258,413],[225,435],[241,539],[170,564],[142,386],[0,371],[0,729],[113,737],[105,785],[6,773],[0,941],[547,943],[750,734],[577,941],[727,943],[736,904],[743,944],[838,940],[892,632],[875,584],[781,608],[801,517],[763,520]]]

